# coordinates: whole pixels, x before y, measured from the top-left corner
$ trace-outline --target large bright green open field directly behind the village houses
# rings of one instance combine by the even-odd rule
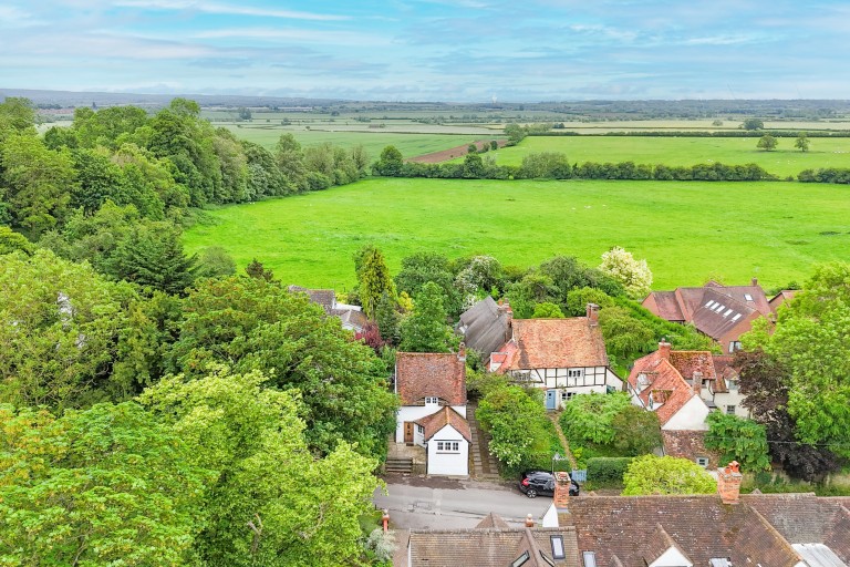
[[[222,246],[240,269],[257,258],[286,284],[338,290],[366,244],[393,272],[417,250],[525,267],[557,254],[597,265],[619,245],[647,259],[655,289],[781,287],[850,259],[850,187],[832,185],[375,178],[208,215],[185,233],[188,251]]]

